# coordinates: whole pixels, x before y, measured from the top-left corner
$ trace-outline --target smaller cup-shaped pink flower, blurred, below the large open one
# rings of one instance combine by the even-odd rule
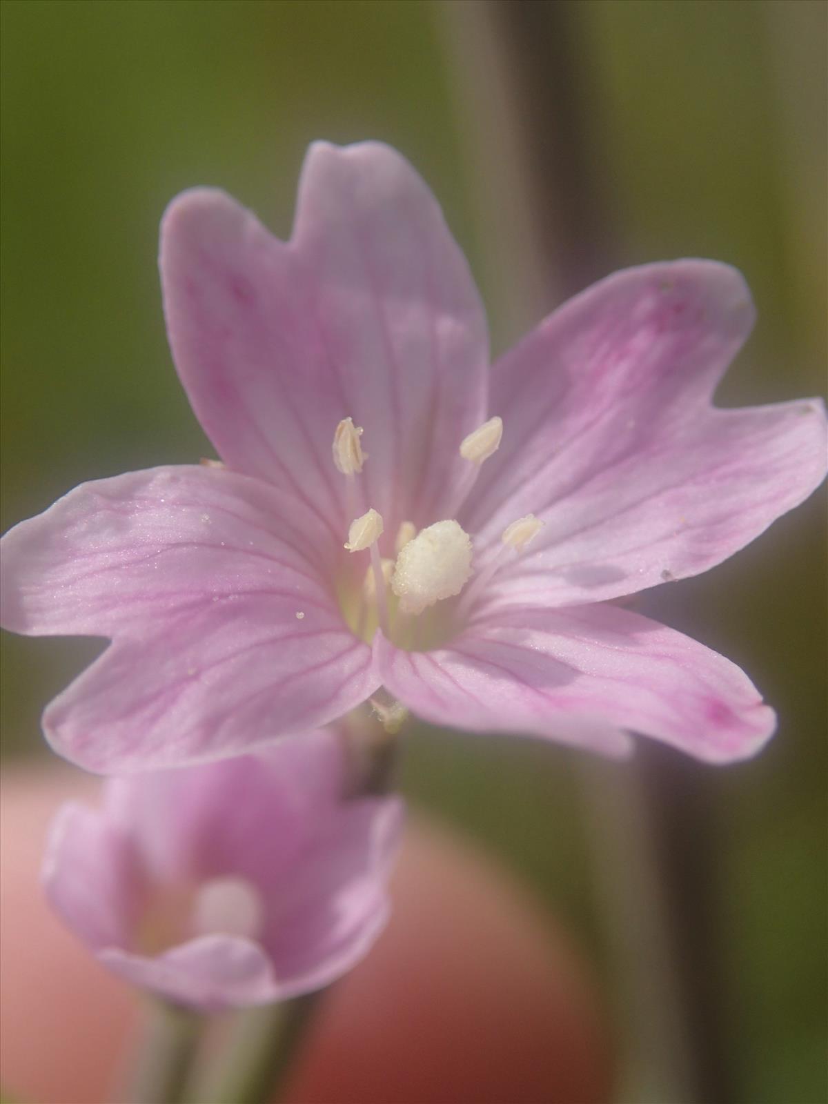
[[[397,798],[341,796],[333,732],[224,763],[108,779],[64,805],[43,867],[52,905],[128,981],[199,1008],[320,988],[385,924]]]

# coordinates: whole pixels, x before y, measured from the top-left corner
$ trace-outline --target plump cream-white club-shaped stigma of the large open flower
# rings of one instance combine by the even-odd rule
[[[471,541],[456,521],[437,521],[408,541],[396,559],[391,590],[403,613],[420,614],[459,594],[471,574]]]

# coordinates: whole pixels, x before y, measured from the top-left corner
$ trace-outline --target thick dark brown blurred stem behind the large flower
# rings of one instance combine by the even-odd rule
[[[471,135],[467,152],[484,193],[488,267],[501,317],[517,332],[623,261],[611,167],[590,125],[599,105],[578,8],[571,0],[440,7],[460,74],[460,132]],[[508,284],[498,285],[501,273]],[[724,1104],[733,1093],[712,920],[709,775],[643,743],[624,773],[586,763],[582,777],[624,1011],[634,1020],[634,1063],[648,1066],[659,1098]]]

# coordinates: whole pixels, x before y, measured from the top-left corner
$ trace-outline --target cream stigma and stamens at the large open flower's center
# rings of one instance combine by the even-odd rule
[[[489,418],[464,437],[460,456],[481,465],[497,452],[502,432],[502,421]],[[354,518],[344,548],[349,553],[368,551],[371,561],[361,586],[354,586],[351,574],[340,583],[340,608],[352,631],[368,644],[381,628],[400,648],[428,650],[450,638],[473,595],[500,569],[503,556],[510,550],[514,555],[528,544],[543,522],[532,514],[513,521],[502,534],[503,548],[468,587],[474,574],[473,541],[453,518],[435,521],[420,532],[411,521],[403,521],[394,540],[396,560],[382,558],[378,543],[384,529],[382,517],[374,509],[354,517],[359,501],[355,476],[368,459],[361,436],[362,428],[350,417],[339,423],[333,435],[333,463],[346,477],[348,512]],[[461,592],[459,603],[445,604],[446,598]]]

